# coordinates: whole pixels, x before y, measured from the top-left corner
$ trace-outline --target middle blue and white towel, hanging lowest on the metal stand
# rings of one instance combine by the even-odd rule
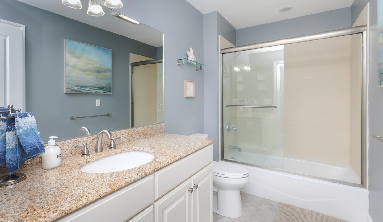
[[[16,112],[15,109],[12,111]],[[7,166],[7,172],[14,173],[20,169],[20,167],[24,165],[25,162],[25,153],[17,138],[14,118],[7,119],[7,133],[5,136],[7,141],[7,147],[5,149],[5,163]]]

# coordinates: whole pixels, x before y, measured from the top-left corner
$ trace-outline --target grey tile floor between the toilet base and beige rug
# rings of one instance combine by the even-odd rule
[[[223,217],[214,213],[214,222],[273,222],[279,203],[241,192],[243,216]]]

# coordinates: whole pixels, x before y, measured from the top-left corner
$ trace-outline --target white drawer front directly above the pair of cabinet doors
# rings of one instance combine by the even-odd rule
[[[213,159],[213,145],[196,151],[176,162],[154,172],[154,199],[175,188],[182,181],[191,177]]]

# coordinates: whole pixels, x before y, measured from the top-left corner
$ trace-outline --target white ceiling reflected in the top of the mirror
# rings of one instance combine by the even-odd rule
[[[32,5],[47,11],[51,11],[58,15],[65,16],[80,21],[91,26],[95,26],[106,31],[114,32],[121,36],[144,42],[154,47],[163,45],[162,32],[153,30],[144,24],[131,24],[123,19],[112,16],[115,11],[110,8],[103,7],[105,15],[101,17],[93,17],[87,15],[88,0],[81,0],[82,9],[72,9],[61,3],[60,0],[18,0],[28,5]],[[129,16],[129,15],[126,15]],[[134,18],[133,18],[134,19]]]

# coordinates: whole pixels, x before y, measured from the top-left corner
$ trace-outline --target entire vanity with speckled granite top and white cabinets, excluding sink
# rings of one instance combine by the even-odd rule
[[[140,128],[128,131],[132,130]],[[117,144],[114,150],[91,150],[88,157],[66,157],[55,169],[27,167],[22,170],[27,175],[25,181],[0,188],[4,191],[0,218],[165,222],[181,217],[180,221],[213,221],[211,143],[211,139],[160,133]],[[80,171],[88,162],[128,151],[151,152],[154,159],[119,172]]]

